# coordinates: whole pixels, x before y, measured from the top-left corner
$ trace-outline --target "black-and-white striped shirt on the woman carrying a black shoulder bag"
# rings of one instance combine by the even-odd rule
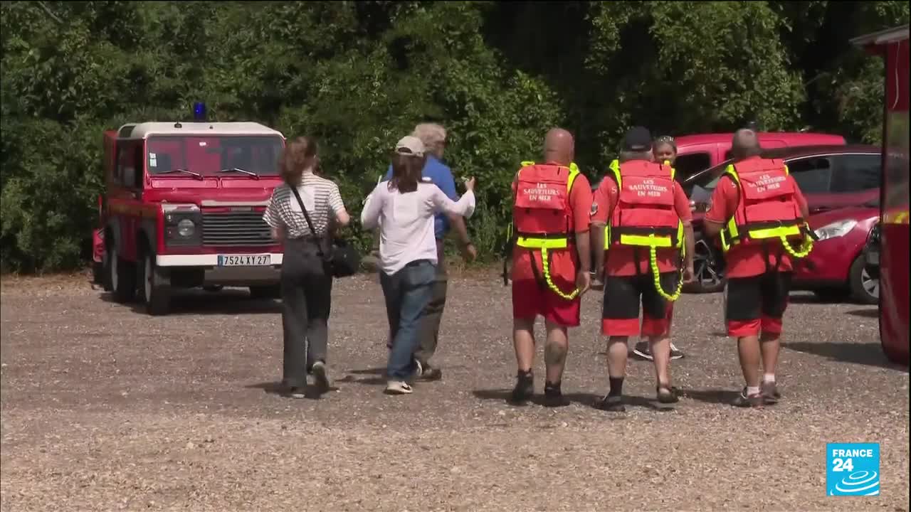
[[[303,206],[310,214],[316,236],[325,235],[329,229],[329,221],[345,210],[338,185],[312,172],[305,172],[297,191],[301,194]],[[284,229],[287,238],[312,236],[307,220],[303,217],[301,205],[287,184],[276,187],[272,192],[262,220],[272,228]]]

